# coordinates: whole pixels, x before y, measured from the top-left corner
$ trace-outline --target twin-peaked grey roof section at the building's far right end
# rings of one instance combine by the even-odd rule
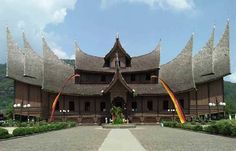
[[[230,74],[229,22],[215,48],[213,44],[214,31],[206,46],[193,58],[196,84],[212,81]]]

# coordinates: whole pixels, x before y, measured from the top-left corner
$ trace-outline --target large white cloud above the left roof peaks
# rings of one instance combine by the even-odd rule
[[[0,63],[5,61],[6,33],[8,25],[17,42],[21,42],[21,32],[24,29],[30,43],[38,50],[41,47],[41,32],[45,33],[48,24],[58,24],[64,21],[68,10],[74,9],[77,0],[1,0],[0,5]],[[54,41],[54,37],[47,37]],[[52,48],[53,49],[53,48]]]

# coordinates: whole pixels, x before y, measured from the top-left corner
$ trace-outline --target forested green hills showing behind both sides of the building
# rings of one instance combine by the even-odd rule
[[[74,60],[64,60],[74,65]],[[0,111],[13,104],[14,82],[5,77],[6,65],[0,64]],[[236,83],[224,82],[226,111],[236,113]]]

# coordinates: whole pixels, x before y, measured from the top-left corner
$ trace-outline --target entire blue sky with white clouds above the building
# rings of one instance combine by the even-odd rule
[[[23,46],[22,32],[42,55],[42,36],[59,58],[74,59],[74,42],[105,56],[116,33],[130,56],[151,52],[161,39],[161,64],[174,59],[194,33],[193,54],[216,26],[215,45],[230,20],[231,72],[236,83],[235,0],[0,0],[0,63],[6,62],[6,27]]]

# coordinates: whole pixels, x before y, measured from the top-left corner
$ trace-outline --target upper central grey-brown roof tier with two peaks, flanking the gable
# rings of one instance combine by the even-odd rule
[[[121,68],[120,72],[138,72],[158,69],[160,66],[160,43],[150,53],[131,58],[131,67]],[[85,71],[115,72],[115,69],[104,67],[104,58],[84,53],[76,48],[75,68]]]

